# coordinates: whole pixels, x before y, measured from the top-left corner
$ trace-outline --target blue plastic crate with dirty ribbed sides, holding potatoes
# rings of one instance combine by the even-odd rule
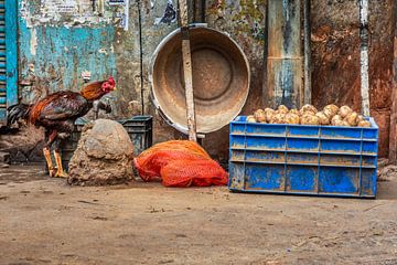
[[[378,127],[230,123],[229,189],[376,197]]]

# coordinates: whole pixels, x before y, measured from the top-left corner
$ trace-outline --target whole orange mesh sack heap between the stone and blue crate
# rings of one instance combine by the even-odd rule
[[[158,144],[133,160],[140,178],[160,178],[168,187],[226,184],[227,173],[196,142],[173,140]]]

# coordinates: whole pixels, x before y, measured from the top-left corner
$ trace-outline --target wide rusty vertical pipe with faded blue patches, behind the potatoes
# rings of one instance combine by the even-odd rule
[[[267,105],[300,107],[303,104],[301,1],[269,0],[267,15]]]

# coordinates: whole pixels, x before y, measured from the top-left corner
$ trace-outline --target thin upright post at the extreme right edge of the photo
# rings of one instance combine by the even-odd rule
[[[390,109],[389,162],[397,163],[397,3],[394,2],[394,63]]]

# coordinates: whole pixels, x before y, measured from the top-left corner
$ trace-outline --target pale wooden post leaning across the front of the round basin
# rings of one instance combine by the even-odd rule
[[[196,123],[194,110],[194,94],[193,94],[193,76],[192,76],[192,54],[189,35],[189,18],[187,18],[187,2],[186,0],[179,0],[180,18],[181,18],[181,32],[182,32],[182,59],[183,59],[183,73],[184,86],[186,97],[186,116],[189,139],[197,141]]]

